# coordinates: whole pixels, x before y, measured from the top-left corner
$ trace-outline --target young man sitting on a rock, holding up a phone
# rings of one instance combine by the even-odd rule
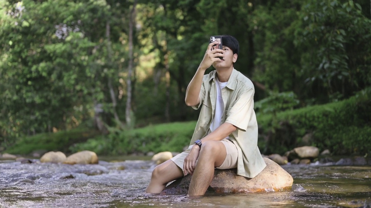
[[[153,170],[146,192],[160,193],[168,182],[191,174],[188,195],[204,195],[214,168],[237,168],[238,175],[253,178],[266,167],[257,147],[254,85],[233,67],[236,38],[222,36],[222,43],[223,50],[209,44],[187,88],[185,103],[202,106],[189,148]],[[211,65],[216,70],[205,74]]]

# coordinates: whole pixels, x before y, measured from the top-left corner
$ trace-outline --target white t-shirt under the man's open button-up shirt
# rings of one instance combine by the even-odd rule
[[[215,116],[214,120],[210,124],[210,132],[215,131],[221,123],[221,118],[223,117],[224,113],[224,102],[223,97],[221,97],[221,89],[223,89],[228,82],[220,82],[218,79],[216,81],[216,104],[215,104]],[[226,137],[228,139],[229,136]]]

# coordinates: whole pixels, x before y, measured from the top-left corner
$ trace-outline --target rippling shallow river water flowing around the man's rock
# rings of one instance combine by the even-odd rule
[[[291,191],[189,198],[146,194],[155,167],[149,158],[99,159],[97,165],[0,161],[0,207],[371,207],[370,166],[283,165],[294,178]]]

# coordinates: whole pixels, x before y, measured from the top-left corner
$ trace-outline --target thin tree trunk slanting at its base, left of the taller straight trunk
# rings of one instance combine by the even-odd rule
[[[106,38],[107,38],[108,66],[109,66],[109,68],[111,68],[112,67],[112,50],[111,50],[112,48],[111,48],[109,21],[106,22]],[[109,88],[109,94],[111,95],[112,108],[113,108],[112,110],[113,110],[113,113],[114,113],[116,123],[117,123],[117,125],[119,125],[119,127],[122,128],[123,125],[120,121],[120,118],[117,115],[117,112],[116,112],[117,100],[116,100],[116,95],[115,95],[114,88],[112,86],[111,75],[108,76],[108,88]]]

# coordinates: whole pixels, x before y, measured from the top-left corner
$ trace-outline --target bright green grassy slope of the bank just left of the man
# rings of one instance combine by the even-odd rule
[[[189,145],[196,122],[150,125],[128,131],[112,132],[69,148],[71,152],[91,150],[97,154],[121,155],[135,152],[181,152]]]

